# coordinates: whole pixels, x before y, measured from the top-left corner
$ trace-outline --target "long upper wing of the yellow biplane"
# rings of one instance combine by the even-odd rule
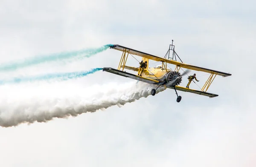
[[[134,49],[130,49],[130,48],[127,48],[125,46],[113,45],[110,48],[116,49],[116,50],[119,50],[119,51],[122,51],[122,52],[125,49],[128,49],[127,52],[129,52],[132,55],[141,56],[143,58],[148,58],[148,59],[151,59],[151,60],[154,60],[154,61],[162,61],[162,62],[166,62],[166,63],[171,63],[171,64],[174,64],[174,65],[180,66],[182,68],[186,68],[186,69],[192,69],[192,70],[195,70],[195,71],[202,71],[202,72],[207,72],[207,73],[214,73],[214,74],[217,74],[217,75],[221,75],[223,77],[227,77],[227,76],[231,75],[231,74],[225,73],[225,72],[219,72],[219,71],[212,70],[212,69],[206,69],[206,68],[203,68],[203,67],[193,66],[193,65],[186,64],[186,63],[180,63],[180,62],[177,62],[177,61],[174,61],[174,60],[169,60],[169,59],[166,59],[166,58],[161,58],[161,57],[158,57],[158,56],[150,55],[148,53],[144,53],[144,52],[140,52],[140,51],[137,51],[137,50],[134,50]]]

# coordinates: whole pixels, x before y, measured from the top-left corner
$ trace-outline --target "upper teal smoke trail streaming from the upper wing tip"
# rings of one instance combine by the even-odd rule
[[[93,55],[96,55],[99,52],[105,51],[106,49],[108,49],[108,47],[111,47],[111,46],[113,45],[107,44],[102,47],[94,48],[94,49],[82,49],[82,50],[73,51],[73,52],[62,52],[62,53],[56,53],[52,55],[28,58],[28,59],[20,60],[16,62],[4,63],[4,64],[0,64],[0,71],[11,71],[11,70],[15,70],[15,69],[19,69],[27,66],[33,66],[40,63],[74,58],[76,56],[89,58]]]

